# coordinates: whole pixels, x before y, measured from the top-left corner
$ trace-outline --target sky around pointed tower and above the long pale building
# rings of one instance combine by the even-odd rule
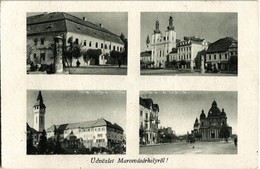
[[[104,118],[124,130],[126,124],[125,91],[42,90],[46,106],[45,129],[53,124],[74,123]],[[33,127],[32,107],[38,90],[27,91],[27,122]]]

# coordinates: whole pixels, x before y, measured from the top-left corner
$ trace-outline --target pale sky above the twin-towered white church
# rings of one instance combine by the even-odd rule
[[[211,12],[142,12],[141,13],[141,51],[145,51],[147,35],[155,29],[158,18],[160,30],[164,33],[169,25],[169,16],[173,17],[177,39],[183,36],[197,36],[209,42],[224,37],[237,39],[237,13]]]

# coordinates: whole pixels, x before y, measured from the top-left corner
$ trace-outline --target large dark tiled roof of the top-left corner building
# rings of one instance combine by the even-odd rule
[[[106,28],[65,12],[53,12],[27,17],[27,35],[51,32],[75,32],[124,44],[120,36]]]

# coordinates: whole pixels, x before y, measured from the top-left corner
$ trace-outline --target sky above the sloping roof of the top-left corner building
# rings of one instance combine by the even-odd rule
[[[86,17],[92,23],[102,23],[104,28],[110,30],[116,35],[123,33],[125,37],[128,36],[128,16],[127,12],[67,12],[78,18]],[[27,13],[27,17],[43,14],[42,12]]]

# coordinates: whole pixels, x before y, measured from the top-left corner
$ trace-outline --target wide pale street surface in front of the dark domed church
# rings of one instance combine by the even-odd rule
[[[194,147],[194,148],[193,148]],[[237,154],[233,142],[175,142],[140,147],[140,154]]]

